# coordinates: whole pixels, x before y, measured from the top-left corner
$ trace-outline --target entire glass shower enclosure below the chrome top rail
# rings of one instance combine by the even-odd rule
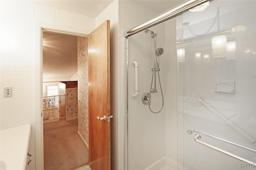
[[[256,168],[255,6],[212,0],[150,27],[156,41],[126,37],[128,170]]]

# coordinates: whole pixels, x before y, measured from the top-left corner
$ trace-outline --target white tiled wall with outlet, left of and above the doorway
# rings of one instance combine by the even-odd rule
[[[36,141],[40,138],[35,139],[35,117],[41,114],[35,110],[40,105],[34,102],[38,98],[40,100],[40,96],[35,95],[40,94],[35,91],[38,89],[35,84],[40,86],[38,76],[35,77],[35,70],[40,69],[40,65],[35,67],[35,53],[38,52],[34,50],[34,44],[38,43],[35,39],[40,39],[35,37],[35,25],[37,23],[54,29],[88,34],[95,28],[95,20],[88,16],[39,6],[32,1],[0,1],[0,17],[0,129],[31,124],[30,169],[41,169],[40,158],[37,158],[35,165],[35,148],[40,150],[38,143],[41,143]],[[3,98],[5,86],[12,86],[11,98]],[[41,156],[38,153],[37,155]]]

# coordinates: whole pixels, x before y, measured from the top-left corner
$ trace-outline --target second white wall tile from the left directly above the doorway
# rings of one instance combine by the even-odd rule
[[[74,26],[74,13],[56,9],[56,24],[67,27]]]

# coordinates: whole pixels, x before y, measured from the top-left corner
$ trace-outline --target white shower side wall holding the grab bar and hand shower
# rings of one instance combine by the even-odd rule
[[[163,47],[163,25],[150,28],[157,35],[157,48]],[[150,91],[152,80],[152,66],[154,60],[154,38],[151,33],[144,31],[128,39],[128,168],[129,170],[145,169],[165,156],[165,109],[158,114],[149,110],[148,105],[142,104],[142,94]],[[160,78],[163,80],[164,58],[160,60]],[[139,66],[139,96],[131,97],[135,91],[135,67],[131,61]],[[130,74],[129,74],[130,73]],[[152,88],[154,88],[154,80]],[[160,110],[162,96],[160,84],[156,88],[159,92],[152,94],[151,108]]]

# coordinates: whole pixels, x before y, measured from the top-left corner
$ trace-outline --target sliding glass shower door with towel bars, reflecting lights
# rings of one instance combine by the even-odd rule
[[[177,17],[178,169],[256,167],[255,6],[214,0]]]

